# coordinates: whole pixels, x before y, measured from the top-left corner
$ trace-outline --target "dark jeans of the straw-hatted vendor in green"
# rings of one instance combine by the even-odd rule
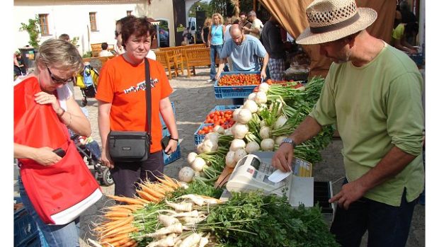
[[[399,207],[365,197],[350,204],[348,210],[337,206],[331,233],[336,235],[337,242],[343,247],[360,246],[366,230],[367,246],[404,247],[416,202],[417,199],[406,201],[404,189]]]

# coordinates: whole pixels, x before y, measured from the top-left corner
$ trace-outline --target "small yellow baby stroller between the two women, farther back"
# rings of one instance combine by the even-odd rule
[[[84,62],[84,71],[76,76],[76,86],[79,86],[82,93],[82,106],[87,105],[87,98],[96,96],[99,73],[91,67],[89,62]]]

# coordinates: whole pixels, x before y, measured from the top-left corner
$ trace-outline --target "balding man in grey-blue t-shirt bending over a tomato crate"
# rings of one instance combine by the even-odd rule
[[[220,55],[220,66],[218,67],[215,79],[220,79],[224,64],[227,58],[232,58],[233,71],[259,71],[259,58],[263,57],[263,65],[261,69],[261,78],[266,79],[266,68],[268,64],[268,52],[263,47],[261,41],[251,35],[244,35],[244,31],[238,24],[230,27],[230,35],[232,38],[224,42],[224,47]],[[234,98],[234,105],[242,105],[243,98]]]

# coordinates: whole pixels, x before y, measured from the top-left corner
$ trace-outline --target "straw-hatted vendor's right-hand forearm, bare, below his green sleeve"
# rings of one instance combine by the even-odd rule
[[[365,191],[375,188],[389,178],[397,176],[415,158],[416,156],[407,154],[398,147],[393,147],[377,163],[377,166],[358,178],[358,182],[363,185]]]

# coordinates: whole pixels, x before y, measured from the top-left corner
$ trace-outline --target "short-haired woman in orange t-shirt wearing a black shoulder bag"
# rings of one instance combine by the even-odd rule
[[[171,134],[171,140],[164,150],[167,154],[176,151],[178,132],[169,100],[172,88],[164,68],[159,62],[148,59],[152,104],[150,156],[147,161],[138,163],[114,163],[110,159],[107,146],[110,130],[147,131],[144,58],[151,47],[155,28],[146,18],[130,18],[122,25],[121,33],[125,53],[108,60],[101,69],[96,99],[103,149],[101,160],[110,168],[115,181],[115,195],[134,197],[135,183],[147,178],[156,181],[155,176],[161,176],[164,171],[159,113]]]

